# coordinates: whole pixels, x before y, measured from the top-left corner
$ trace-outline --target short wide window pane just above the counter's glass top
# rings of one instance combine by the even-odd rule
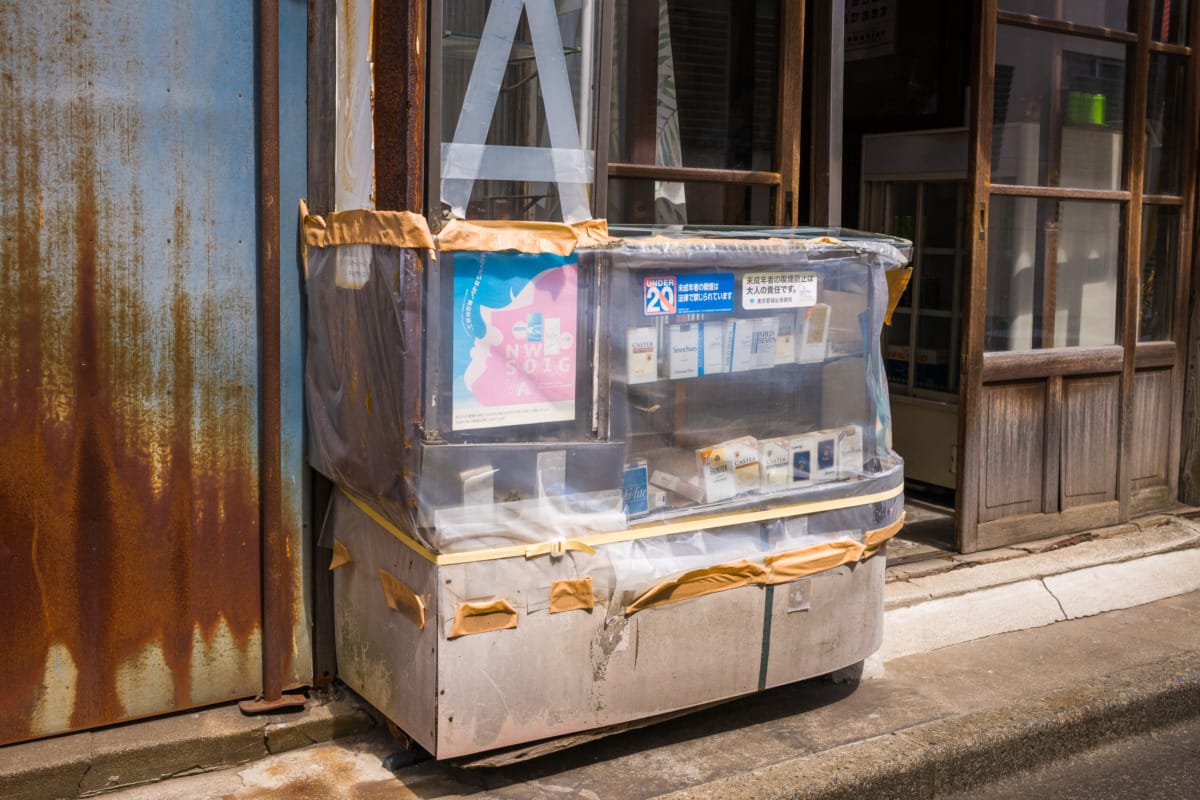
[[[767,186],[608,179],[608,221],[625,224],[769,225]],[[673,201],[685,199],[683,203]],[[683,207],[686,216],[680,217]]]

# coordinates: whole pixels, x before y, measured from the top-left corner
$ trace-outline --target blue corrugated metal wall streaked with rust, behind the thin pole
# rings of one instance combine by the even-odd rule
[[[253,4],[0,4],[0,744],[262,686],[254,91]]]

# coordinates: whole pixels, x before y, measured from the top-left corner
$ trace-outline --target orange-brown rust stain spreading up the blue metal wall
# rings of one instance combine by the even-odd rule
[[[89,13],[61,36],[84,42]],[[0,12],[8,53],[37,32],[13,6]],[[220,366],[254,342],[235,341],[222,314],[239,287],[188,282],[218,259],[212,247],[209,264],[192,258],[193,236],[216,235],[191,217],[194,176],[175,175],[170,239],[148,246],[163,231],[142,224],[140,193],[116,196],[98,167],[114,142],[134,160],[151,134],[139,107],[114,114],[89,94],[109,65],[82,46],[61,56],[78,96],[37,98],[37,59],[17,52],[0,54],[12,221],[0,239],[0,745],[58,732],[32,727],[53,648],[77,668],[66,728],[79,729],[130,716],[116,675],[146,648],[169,668],[161,710],[186,708],[206,678],[192,674],[196,631],[211,643],[228,628],[245,648],[260,624],[253,374]],[[13,80],[18,60],[28,73]],[[42,186],[48,174],[56,184]],[[167,297],[144,290],[150,273],[172,275]]]

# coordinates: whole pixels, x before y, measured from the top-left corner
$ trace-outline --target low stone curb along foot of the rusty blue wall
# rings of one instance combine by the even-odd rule
[[[356,699],[311,699],[294,714],[235,705],[0,747],[0,798],[80,798],[236,766],[376,726]]]

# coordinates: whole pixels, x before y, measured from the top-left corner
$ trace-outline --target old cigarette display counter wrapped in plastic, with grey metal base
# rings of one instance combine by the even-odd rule
[[[878,646],[907,242],[456,222],[434,258],[416,217],[338,216],[305,225],[338,673],[413,739],[604,728]]]

